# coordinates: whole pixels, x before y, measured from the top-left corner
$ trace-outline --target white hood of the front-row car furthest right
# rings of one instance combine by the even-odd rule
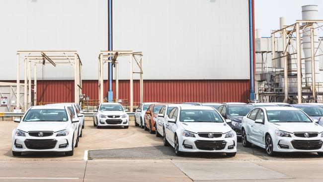
[[[314,122],[310,123],[297,123],[297,122],[281,122],[281,123],[271,123],[272,126],[278,128],[281,131],[286,131],[289,133],[294,132],[323,132],[323,127],[315,124]]]

